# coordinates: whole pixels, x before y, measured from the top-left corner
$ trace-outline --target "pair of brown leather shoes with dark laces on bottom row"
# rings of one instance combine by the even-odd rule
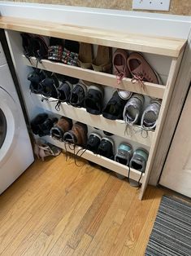
[[[66,143],[72,143],[81,147],[85,147],[87,142],[88,127],[77,121],[72,123],[72,119],[60,117],[50,130],[50,136],[53,139],[59,139]]]

